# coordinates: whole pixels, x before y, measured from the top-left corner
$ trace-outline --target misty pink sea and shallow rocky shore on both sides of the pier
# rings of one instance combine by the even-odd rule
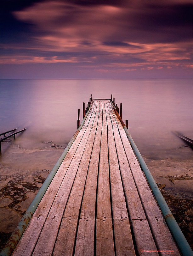
[[[2,143],[2,232],[17,226],[77,130],[78,109],[82,113],[91,94],[112,94],[122,103],[122,119],[156,182],[176,198],[192,199],[192,150],[173,134],[192,138],[191,79],[1,79],[0,132],[26,128]]]

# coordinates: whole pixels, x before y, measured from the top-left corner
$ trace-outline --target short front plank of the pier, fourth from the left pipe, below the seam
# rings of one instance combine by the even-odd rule
[[[80,219],[74,256],[94,255],[94,219]]]

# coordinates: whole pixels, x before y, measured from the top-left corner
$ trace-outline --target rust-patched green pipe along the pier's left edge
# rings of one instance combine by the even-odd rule
[[[92,103],[91,103],[91,105],[92,105]],[[53,180],[53,178],[54,178],[55,174],[57,173],[61,163],[63,162],[66,154],[68,153],[72,143],[74,142],[74,140],[77,137],[79,131],[81,130],[81,128],[82,128],[82,126],[83,126],[83,124],[84,124],[84,122],[85,122],[85,120],[88,116],[88,113],[91,110],[91,105],[90,105],[90,107],[88,109],[88,112],[86,113],[85,117],[83,118],[80,126],[78,127],[77,131],[75,132],[74,136],[71,138],[71,140],[68,143],[68,145],[66,146],[64,152],[62,153],[62,155],[60,156],[60,158],[58,159],[58,161],[54,165],[53,169],[49,173],[47,179],[44,181],[43,185],[41,186],[40,190],[38,191],[36,197],[33,199],[29,208],[26,210],[26,213],[24,214],[24,216],[20,220],[17,228],[13,231],[13,233],[9,237],[9,240],[7,241],[7,243],[5,244],[5,247],[2,249],[2,251],[0,253],[1,256],[10,256],[13,253],[13,251],[14,251],[16,245],[18,244],[21,236],[23,235],[23,232],[25,231],[31,217],[33,216],[33,213],[37,209],[37,206],[40,203],[40,201],[42,200],[45,192],[47,191],[48,186],[50,185],[51,181]]]

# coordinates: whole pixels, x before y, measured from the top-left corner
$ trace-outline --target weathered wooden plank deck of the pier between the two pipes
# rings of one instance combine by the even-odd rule
[[[12,255],[180,255],[110,100],[91,101]]]

